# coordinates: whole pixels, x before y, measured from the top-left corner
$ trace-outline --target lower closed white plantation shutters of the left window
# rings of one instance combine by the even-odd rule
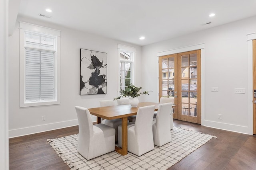
[[[26,101],[54,99],[54,53],[26,49]]]

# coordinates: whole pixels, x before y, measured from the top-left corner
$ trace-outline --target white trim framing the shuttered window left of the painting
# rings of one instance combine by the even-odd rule
[[[56,37],[56,51],[54,58],[55,98],[54,100],[25,101],[25,32],[48,34]],[[27,47],[26,47],[27,48]],[[36,49],[36,48],[34,48]],[[40,49],[48,50],[48,49]],[[60,104],[60,31],[30,23],[20,22],[20,107],[46,106]]]

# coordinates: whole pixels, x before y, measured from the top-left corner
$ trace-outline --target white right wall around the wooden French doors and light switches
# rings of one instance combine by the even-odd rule
[[[157,52],[204,43],[202,122],[205,126],[252,134],[252,102],[248,104],[252,95],[252,89],[248,89],[252,79],[248,78],[248,63],[252,62],[248,61],[246,36],[252,32],[256,32],[256,17],[142,47],[143,86],[154,94],[148,98],[158,101]],[[211,87],[218,87],[219,91],[211,92]],[[246,93],[235,94],[234,88],[245,88]],[[222,114],[222,119],[218,119],[218,114]]]

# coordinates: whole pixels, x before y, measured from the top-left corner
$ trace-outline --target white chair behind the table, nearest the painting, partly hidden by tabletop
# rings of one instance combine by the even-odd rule
[[[100,101],[100,107],[106,107],[106,106],[114,106],[114,100],[101,100]],[[114,127],[114,129],[116,130],[116,137],[115,137],[115,141],[118,141],[118,131],[117,128],[119,125],[122,125],[122,120],[121,119],[112,119],[112,120],[108,120],[108,119],[103,119],[102,123],[111,127]]]

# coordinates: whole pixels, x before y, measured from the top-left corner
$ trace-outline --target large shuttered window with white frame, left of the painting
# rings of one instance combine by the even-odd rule
[[[60,31],[20,22],[20,107],[51,104],[60,104]]]

